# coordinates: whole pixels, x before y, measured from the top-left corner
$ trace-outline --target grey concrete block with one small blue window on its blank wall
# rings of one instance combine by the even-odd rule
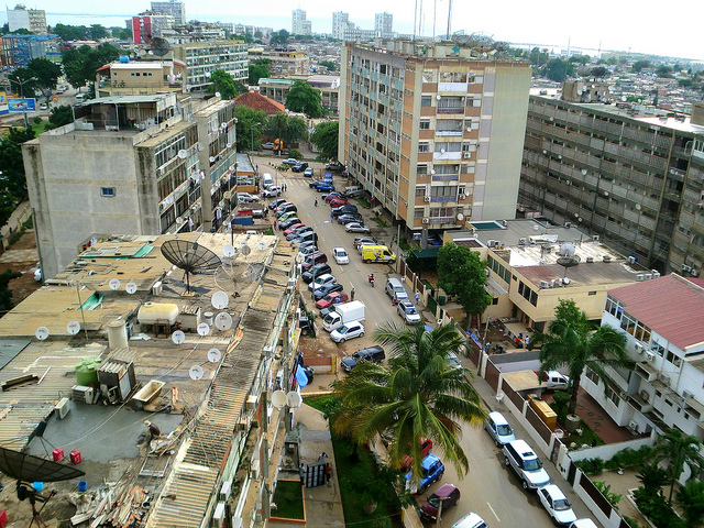
[[[234,103],[191,105],[175,94],[94,99],[22,145],[44,277],[92,233],[210,230],[235,163]]]

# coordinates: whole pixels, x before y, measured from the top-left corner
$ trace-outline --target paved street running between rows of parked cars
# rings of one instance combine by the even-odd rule
[[[255,163],[260,164],[261,170],[265,170],[262,167],[264,167],[266,161],[266,158],[255,160]],[[316,165],[316,167],[318,167],[318,165]],[[288,185],[285,197],[298,206],[299,218],[307,226],[316,226],[316,231],[319,235],[318,246],[329,256],[331,255],[332,248],[338,245],[342,245],[350,251],[350,264],[340,266],[331,262],[330,266],[338,282],[344,286],[345,292],[349,293],[350,287],[354,286],[356,290],[355,298],[365,302],[366,334],[364,338],[352,340],[339,346],[346,348],[349,353],[372,344],[371,334],[377,322],[392,320],[400,323],[400,318],[392,306],[389,297],[384,293],[384,282],[389,272],[388,266],[363,264],[361,255],[352,248],[354,234],[345,233],[342,226],[339,226],[337,222],[323,223],[330,221],[330,208],[322,201],[320,198],[321,195],[308,188],[309,179],[289,173],[287,176],[279,175],[279,184],[284,182]],[[342,178],[337,175],[334,176],[336,187],[344,185],[342,182]],[[314,207],[316,196],[319,202],[317,208]],[[362,212],[365,218],[370,216],[369,211]],[[377,235],[381,228],[376,227],[375,223],[371,223],[371,226],[373,230],[372,234]],[[366,280],[371,271],[373,271],[377,277],[375,288],[371,288]],[[323,339],[326,339],[326,332],[322,332],[322,336]],[[468,360],[463,360],[463,362],[468,362]],[[465,366],[469,366],[469,363]],[[516,429],[518,438],[528,438],[510,417],[507,418]],[[504,466],[504,458],[501,451],[494,446],[494,442],[483,428],[465,425],[462,428],[461,443],[470,459],[471,470],[464,479],[460,480],[454,468],[448,466],[446,469],[442,482],[452,482],[455,484],[462,493],[462,498],[458,507],[443,515],[442,526],[452,526],[452,524],[469,512],[477,513],[492,528],[547,528],[552,526],[548,514],[543,510],[536,494],[524,492],[517,476]],[[561,485],[562,480],[559,477],[552,464],[547,463],[546,466],[553,482]],[[438,484],[433,484],[430,490],[421,496],[419,504],[422,504],[425,497],[430,495],[437,487]],[[566,484],[561,485],[561,488],[566,490]],[[579,517],[590,516],[586,507],[576,499],[576,497],[572,494],[568,494],[568,496],[576,503],[574,509]]]

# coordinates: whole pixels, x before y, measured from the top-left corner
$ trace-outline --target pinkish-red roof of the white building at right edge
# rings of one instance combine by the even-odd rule
[[[608,293],[628,315],[684,351],[704,342],[703,286],[701,279],[672,274]]]

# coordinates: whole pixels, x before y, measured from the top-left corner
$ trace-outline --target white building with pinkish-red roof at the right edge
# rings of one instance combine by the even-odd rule
[[[608,292],[602,324],[623,331],[635,366],[608,369],[606,385],[587,370],[582,387],[618,425],[704,439],[703,286],[671,274]]]

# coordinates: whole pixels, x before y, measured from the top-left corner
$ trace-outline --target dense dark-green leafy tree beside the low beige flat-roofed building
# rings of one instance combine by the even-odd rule
[[[473,317],[480,317],[492,304],[492,296],[484,289],[485,268],[480,254],[465,245],[446,244],[438,252],[438,287],[459,297],[468,315],[468,328]]]

